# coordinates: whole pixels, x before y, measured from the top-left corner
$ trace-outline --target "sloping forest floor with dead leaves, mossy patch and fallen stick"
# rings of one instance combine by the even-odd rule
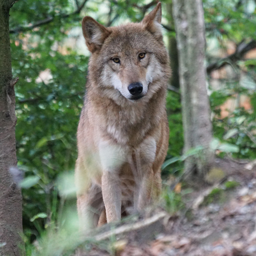
[[[194,186],[176,214],[158,208],[115,227],[105,225],[96,231],[94,243],[83,244],[80,255],[256,255],[254,164],[216,159],[224,177],[207,187]]]

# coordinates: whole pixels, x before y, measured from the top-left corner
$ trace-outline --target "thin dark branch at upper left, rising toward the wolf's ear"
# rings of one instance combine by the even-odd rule
[[[69,14],[62,14],[62,15],[56,15],[56,16],[53,16],[53,17],[47,17],[46,19],[42,19],[42,20],[39,20],[39,22],[36,22],[35,24],[32,24],[30,26],[27,26],[27,27],[17,27],[17,28],[14,28],[14,29],[11,29],[10,30],[10,34],[15,34],[15,33],[20,33],[20,32],[25,32],[25,31],[28,31],[28,30],[31,30],[33,28],[36,28],[36,27],[40,27],[42,25],[46,25],[46,24],[49,24],[51,23],[56,17],[58,18],[68,18],[72,15],[75,15],[75,14],[79,14],[82,10],[82,8],[84,7],[84,5],[86,4],[88,0],[84,0],[83,3],[77,7],[77,10],[72,12],[72,13],[69,13]]]

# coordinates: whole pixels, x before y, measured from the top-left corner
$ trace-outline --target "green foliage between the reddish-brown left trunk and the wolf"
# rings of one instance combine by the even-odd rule
[[[74,8],[69,1],[20,1],[11,12],[10,29],[56,16],[39,29],[10,35],[13,76],[19,77],[16,148],[18,165],[26,175],[20,185],[28,243],[56,221],[60,201],[55,179],[63,170],[73,169],[76,160],[76,129],[88,57],[70,49],[61,52],[63,41],[69,39],[67,32],[79,25],[80,17],[74,17],[72,23],[59,19]]]

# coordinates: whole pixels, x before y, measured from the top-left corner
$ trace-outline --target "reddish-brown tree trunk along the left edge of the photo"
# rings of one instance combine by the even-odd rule
[[[0,0],[0,255],[20,255],[22,194],[9,169],[16,166],[15,94],[9,38],[12,1]]]

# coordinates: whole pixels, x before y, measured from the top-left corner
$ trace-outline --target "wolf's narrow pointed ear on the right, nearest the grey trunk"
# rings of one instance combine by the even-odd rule
[[[142,24],[145,25],[145,28],[150,31],[157,39],[162,39],[162,26],[161,26],[161,18],[162,18],[162,8],[161,2],[157,4],[157,6],[148,13],[142,20]]]

